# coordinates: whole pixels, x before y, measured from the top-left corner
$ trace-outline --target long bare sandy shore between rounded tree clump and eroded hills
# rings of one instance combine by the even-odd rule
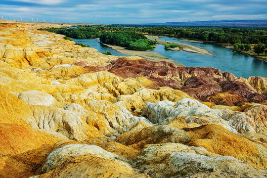
[[[163,55],[154,53],[154,52],[147,52],[147,51],[135,51],[135,50],[128,50],[125,47],[121,47],[121,46],[116,46],[116,45],[107,45],[107,44],[103,44],[106,45],[108,47],[111,47],[112,49],[115,49],[123,54],[127,54],[127,55],[136,55],[139,57],[143,57],[145,59],[150,59],[152,61],[155,62],[159,62],[159,61],[167,61],[167,62],[172,62],[174,63],[177,67],[182,67],[184,65],[182,65],[181,63],[174,61],[168,57],[165,57]]]

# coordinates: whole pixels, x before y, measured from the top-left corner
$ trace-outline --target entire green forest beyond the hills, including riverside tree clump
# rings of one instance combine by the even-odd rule
[[[251,44],[267,45],[266,28],[219,28],[219,27],[173,27],[173,26],[138,26],[138,25],[107,25],[77,26],[77,28],[40,29],[54,32],[75,39],[92,39],[102,36],[102,42],[120,45],[134,50],[151,49],[155,45],[142,34],[169,35],[177,38],[200,40],[206,43],[244,44],[249,50]],[[114,33],[114,34],[113,34]],[[140,34],[141,33],[141,34]],[[105,34],[103,36],[103,34]],[[112,34],[112,35],[111,35]],[[143,40],[139,40],[143,39]],[[243,45],[238,47],[241,50]]]

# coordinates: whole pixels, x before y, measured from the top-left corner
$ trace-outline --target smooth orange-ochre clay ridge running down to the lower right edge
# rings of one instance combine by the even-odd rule
[[[121,134],[117,136],[116,141],[131,145],[136,149],[142,149],[146,144],[168,142],[204,147],[209,152],[232,156],[253,166],[267,169],[265,146],[233,134],[218,125],[205,125],[183,130],[164,125],[154,126]]]

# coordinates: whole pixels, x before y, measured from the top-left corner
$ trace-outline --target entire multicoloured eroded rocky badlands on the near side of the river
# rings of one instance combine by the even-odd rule
[[[1,178],[266,178],[267,79],[0,24]]]

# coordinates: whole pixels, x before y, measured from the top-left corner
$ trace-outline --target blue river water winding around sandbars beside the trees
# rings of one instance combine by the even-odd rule
[[[128,56],[98,43],[99,40],[97,39],[73,40],[76,43],[90,45],[91,47],[96,48],[99,52],[109,51],[113,55]],[[248,78],[249,76],[262,76],[267,78],[267,62],[255,59],[250,56],[245,56],[237,52],[233,52],[231,49],[211,44],[179,41],[174,37],[164,36],[161,37],[160,40],[194,45],[206,49],[213,54],[213,56],[210,56],[185,51],[165,50],[164,45],[158,45],[157,47],[155,47],[155,50],[151,51],[166,56],[187,67],[215,67],[222,70],[223,72],[231,72],[236,77]]]

